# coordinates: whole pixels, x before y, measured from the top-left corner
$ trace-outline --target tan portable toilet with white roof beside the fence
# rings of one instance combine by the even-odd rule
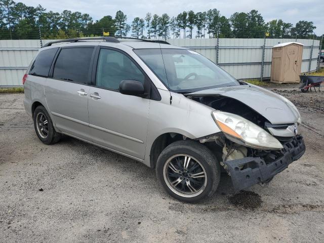
[[[297,42],[286,42],[272,47],[272,83],[299,83],[303,46]]]

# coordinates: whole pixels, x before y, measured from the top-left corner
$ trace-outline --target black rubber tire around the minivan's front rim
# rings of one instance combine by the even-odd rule
[[[204,177],[204,182],[200,182],[200,183],[206,183],[207,184],[203,185],[199,191],[197,191],[196,193],[200,193],[197,195],[190,195],[191,197],[188,197],[187,195],[184,195],[185,192],[182,192],[181,190],[177,191],[176,188],[172,187],[172,182],[171,182],[171,178],[169,180],[168,177],[168,168],[167,165],[169,165],[170,161],[173,161],[172,158],[174,156],[178,156],[178,155],[189,155],[192,159],[190,160],[190,163],[192,165],[192,163],[199,163],[199,166],[202,166],[201,169],[203,170],[203,172],[200,172],[198,174],[201,173],[206,173],[206,178]],[[179,156],[180,158],[180,156]],[[171,160],[170,160],[171,159]],[[176,157],[177,159],[177,157]],[[168,162],[169,160],[169,162]],[[181,159],[179,159],[180,162],[177,160],[175,163],[178,163],[176,165],[180,165]],[[195,160],[197,160],[198,162],[196,162]],[[184,164],[185,164],[185,159],[184,159]],[[181,164],[182,165],[182,164]],[[193,164],[195,165],[195,164]],[[166,167],[165,167],[166,166]],[[191,168],[193,168],[195,166],[191,166]],[[203,168],[204,167],[204,168]],[[178,168],[177,168],[178,169]],[[186,171],[187,173],[189,173],[190,167],[188,166],[188,171]],[[182,170],[182,169],[181,169]],[[166,172],[164,172],[166,171]],[[173,173],[171,171],[172,174],[176,174]],[[185,172],[183,172],[185,173]],[[220,165],[217,161],[216,156],[212,153],[212,151],[206,147],[203,144],[200,144],[198,142],[195,141],[190,141],[190,140],[182,140],[182,141],[176,141],[172,144],[170,144],[169,146],[167,146],[158,156],[157,158],[157,162],[156,162],[156,175],[157,175],[157,179],[160,183],[160,185],[164,188],[164,190],[166,192],[168,192],[172,197],[181,200],[181,201],[185,201],[186,203],[196,203],[197,201],[206,198],[206,197],[210,197],[212,196],[219,184],[220,181]],[[181,175],[181,174],[179,174]],[[193,176],[193,174],[188,174],[191,176]],[[177,175],[178,176],[178,175]],[[180,179],[180,177],[179,177]],[[192,180],[193,178],[189,178],[188,180]],[[187,179],[185,179],[187,181]],[[194,180],[197,180],[196,178]],[[199,180],[201,180],[201,178],[199,178]],[[188,184],[186,184],[186,181],[181,181],[182,184],[177,184],[178,187],[188,187]],[[192,181],[191,181],[192,182]],[[189,181],[190,184],[190,181]],[[170,189],[172,188],[172,189]],[[197,188],[196,188],[197,189]],[[175,192],[176,191],[176,192]],[[190,189],[190,191],[192,191]],[[189,192],[191,193],[191,192]],[[192,192],[195,193],[195,192]]]

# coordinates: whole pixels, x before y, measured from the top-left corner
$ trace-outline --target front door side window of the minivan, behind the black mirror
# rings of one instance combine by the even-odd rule
[[[118,90],[123,80],[137,80],[144,84],[145,76],[141,70],[125,54],[101,49],[99,53],[96,85]]]

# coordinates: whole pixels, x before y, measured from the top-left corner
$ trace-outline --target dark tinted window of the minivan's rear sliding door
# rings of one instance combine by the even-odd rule
[[[54,66],[53,78],[87,84],[93,50],[94,48],[62,49]]]

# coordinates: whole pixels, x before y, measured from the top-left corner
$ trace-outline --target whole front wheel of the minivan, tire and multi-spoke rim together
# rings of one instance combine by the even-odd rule
[[[220,165],[206,146],[190,140],[177,141],[159,155],[156,175],[171,196],[195,203],[216,191]]]

